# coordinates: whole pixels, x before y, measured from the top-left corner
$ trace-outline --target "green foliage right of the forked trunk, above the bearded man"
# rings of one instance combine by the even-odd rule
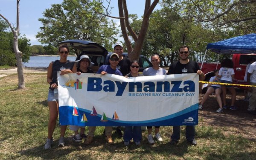
[[[161,65],[166,66],[178,59],[179,47],[186,45],[190,48],[190,59],[203,61],[208,43],[256,31],[256,18],[253,16],[256,3],[249,1],[236,4],[237,2],[163,0],[160,3],[162,9],[151,14],[150,26],[141,53],[147,56],[160,54]],[[234,6],[230,12],[221,15],[232,5]],[[137,15],[129,16],[131,26],[138,35],[142,20],[137,19]],[[225,57],[230,55],[221,55],[220,59]],[[206,61],[217,61],[217,55],[208,52]]]

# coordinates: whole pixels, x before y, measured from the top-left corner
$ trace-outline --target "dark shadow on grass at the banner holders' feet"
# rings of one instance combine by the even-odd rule
[[[52,148],[49,150],[44,149],[44,144],[19,151],[19,154],[25,157],[41,157],[43,159],[65,159],[67,156],[74,156],[75,159],[88,159],[93,160],[95,157],[92,153],[102,154],[102,159],[112,159],[114,154],[131,154],[135,159],[140,158],[142,154],[162,154],[164,157],[170,154],[182,157],[188,152],[189,143],[186,141],[178,143],[177,146],[170,145],[169,143],[155,143],[150,145],[147,138],[143,137],[141,145],[137,146],[131,142],[129,146],[125,146],[123,139],[119,138],[117,134],[112,135],[114,143],[107,144],[104,135],[96,135],[93,137],[93,143],[85,145],[84,140],[80,143],[73,141],[73,137],[67,137],[64,147],[58,147],[58,140],[54,140]],[[76,155],[74,155],[76,154]],[[106,155],[107,157],[104,157]],[[120,157],[121,158],[121,157]],[[133,159],[131,157],[131,159]]]

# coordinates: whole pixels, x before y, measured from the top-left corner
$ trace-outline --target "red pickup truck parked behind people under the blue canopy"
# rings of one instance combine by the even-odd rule
[[[248,59],[249,58],[256,58],[256,54],[233,54],[232,61],[234,64],[234,71],[235,71],[235,79],[236,84],[247,84],[246,82],[241,82],[244,80],[244,74],[245,74],[245,69],[248,64]],[[202,62],[198,62],[199,67],[201,67]],[[213,63],[213,62],[204,62],[202,71],[205,74],[205,81],[209,81],[209,79],[212,76],[215,76],[213,71],[215,69],[220,69],[221,64],[220,63]],[[244,88],[244,87],[239,87],[239,88]]]

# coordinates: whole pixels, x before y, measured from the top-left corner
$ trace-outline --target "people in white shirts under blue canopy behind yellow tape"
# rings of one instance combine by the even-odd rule
[[[255,59],[254,58],[249,58],[248,59],[248,64],[245,70],[245,75],[244,75],[244,81],[247,82],[248,84],[255,85],[256,82],[256,69],[255,69]],[[251,66],[251,67],[250,67]],[[233,69],[233,61],[229,58],[224,59],[221,61],[221,68],[220,70],[215,70],[214,71],[215,76],[210,78],[210,82],[220,82],[220,83],[225,83],[226,85],[220,85],[220,84],[208,84],[208,89],[207,92],[204,94],[203,99],[199,102],[199,109],[203,109],[204,102],[207,100],[210,94],[215,93],[219,109],[216,111],[218,113],[223,112],[223,109],[230,108],[231,110],[236,110],[238,109],[235,106],[235,101],[236,101],[236,90],[235,87],[229,84],[232,84],[233,81],[237,81],[235,79],[235,72]],[[231,98],[231,105],[230,107],[227,106],[226,103],[226,93],[227,89],[230,91],[232,98]],[[255,87],[251,87],[245,91],[245,101],[249,101],[249,107],[248,111],[250,113],[256,114],[255,112]],[[250,95],[254,96],[250,98],[247,96],[247,93],[251,93]],[[250,99],[249,99],[250,98]]]

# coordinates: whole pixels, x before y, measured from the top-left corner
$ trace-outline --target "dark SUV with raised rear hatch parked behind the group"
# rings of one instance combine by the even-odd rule
[[[67,40],[59,42],[58,44],[67,44],[68,47],[73,47],[79,53],[76,60],[79,60],[81,55],[88,55],[90,60],[93,62],[93,66],[90,66],[93,71],[97,71],[98,68],[102,65],[108,64],[108,60],[112,52],[108,52],[107,49],[102,47],[101,45],[84,40]],[[128,57],[128,53],[123,53],[124,57]],[[140,70],[139,72],[143,72],[148,67],[152,67],[151,61],[148,60],[144,55],[140,55]]]

